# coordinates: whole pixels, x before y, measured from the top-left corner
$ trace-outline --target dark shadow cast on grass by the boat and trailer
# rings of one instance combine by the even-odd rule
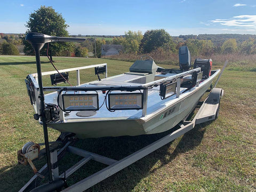
[[[173,153],[169,152],[170,145],[172,144],[172,142],[170,142],[86,191],[131,191],[137,186],[141,179],[147,177],[149,174],[156,171],[156,169],[159,169],[158,166],[152,170],[152,167],[158,161],[161,161],[161,166],[164,166],[165,164],[170,163],[178,154],[186,153],[186,151],[198,146],[202,141],[205,132],[204,127],[206,125],[207,124],[196,126],[193,130],[184,134]],[[137,137],[124,136],[117,138],[79,140],[75,147],[119,160],[146,147],[150,143],[161,139],[165,135],[175,131],[175,129],[177,128],[174,127],[171,131],[164,133],[139,135]],[[170,158],[166,158],[166,155]],[[74,165],[80,159],[81,157],[76,155],[66,155],[60,162],[60,164],[62,164],[62,166],[60,166],[60,172],[61,170],[67,170],[68,167]],[[35,165],[39,170],[39,167],[42,167],[44,163],[45,161],[41,160],[35,162]],[[88,177],[104,167],[106,167],[106,165],[90,161],[67,179],[68,185],[73,185],[75,182]],[[29,166],[15,165],[4,167],[0,170],[0,185],[2,186],[1,188],[3,191],[18,191],[32,176],[33,171]],[[0,191],[2,189],[0,189]]]

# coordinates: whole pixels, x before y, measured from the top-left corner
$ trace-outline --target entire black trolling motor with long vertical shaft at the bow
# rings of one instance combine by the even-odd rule
[[[37,68],[37,75],[38,75],[38,86],[39,86],[39,99],[40,99],[40,114],[41,121],[43,123],[43,130],[44,130],[44,142],[45,142],[45,151],[46,151],[46,159],[47,159],[47,169],[49,174],[49,183],[40,186],[39,191],[49,191],[49,190],[55,190],[58,188],[61,188],[65,186],[66,181],[63,179],[55,179],[53,181],[52,177],[52,164],[51,164],[51,157],[50,157],[50,146],[49,146],[49,139],[48,139],[48,131],[47,131],[47,110],[44,103],[44,92],[43,92],[43,83],[42,83],[42,71],[41,71],[41,61],[40,61],[40,50],[43,48],[45,43],[51,43],[51,42],[83,42],[85,41],[85,38],[72,38],[72,37],[55,37],[55,36],[49,36],[44,35],[40,33],[28,33],[25,40],[31,44],[35,51],[36,55],[36,68]],[[28,163],[31,164],[31,160],[36,158],[39,152],[39,148],[37,145],[32,145],[33,143],[30,143],[29,147],[27,147],[25,150],[20,151],[20,156],[25,158],[25,162],[28,161]],[[26,155],[24,155],[26,154]],[[34,155],[36,154],[36,155]],[[28,158],[28,159],[26,159]],[[36,172],[36,170],[34,170]],[[36,191],[37,188],[35,188]]]

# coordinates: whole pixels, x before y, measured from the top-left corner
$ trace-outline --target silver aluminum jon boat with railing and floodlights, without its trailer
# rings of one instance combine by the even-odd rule
[[[34,43],[34,47],[72,39],[41,35],[31,33],[26,39]],[[179,69],[164,69],[158,67],[152,58],[143,57],[135,61],[127,73],[112,77],[107,77],[106,63],[64,69],[59,73],[41,73],[40,69],[42,76],[51,75],[52,84],[67,81],[68,72],[77,71],[77,85],[42,87],[43,92],[51,91],[43,94],[42,102],[38,97],[42,95],[39,73],[28,75],[25,81],[36,112],[34,117],[42,123],[39,114],[45,109],[47,127],[61,133],[74,133],[81,139],[170,130],[193,111],[220,72],[220,69],[211,70],[212,61],[206,59],[196,59],[194,68],[190,69],[187,46],[180,47],[179,58]],[[105,73],[106,78],[100,79],[98,75],[97,81],[81,84],[79,71],[87,68],[95,68],[95,75]]]

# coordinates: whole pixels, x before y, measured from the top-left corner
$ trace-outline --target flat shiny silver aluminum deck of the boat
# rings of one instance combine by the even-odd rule
[[[102,79],[102,81],[93,81],[86,84],[82,84],[79,87],[95,87],[95,86],[134,86],[134,85],[142,85],[141,83],[130,83],[132,82],[140,82],[142,78],[145,78],[147,74],[121,74],[109,78]],[[157,73],[155,76],[155,79],[161,79],[165,77],[170,77],[177,74],[161,74]],[[180,92],[182,93],[185,91],[185,87],[180,88]],[[112,91],[111,93],[118,93],[121,91]],[[135,91],[139,92],[139,91]],[[66,92],[68,93],[74,93],[73,91]],[[83,92],[81,92],[83,93]],[[90,92],[87,92],[90,93]],[[95,93],[95,91],[92,91],[91,93]],[[102,91],[97,91],[99,94],[99,107],[102,105],[102,107],[97,111],[71,111],[68,115],[65,116],[65,119],[81,119],[81,118],[102,118],[102,117],[127,117],[130,119],[137,119],[142,117],[142,110],[116,110],[115,113],[110,112],[106,108],[106,103],[103,103],[106,97],[106,94],[103,94]],[[124,92],[123,92],[124,93]],[[57,92],[45,94],[45,103],[54,103],[57,105]],[[153,89],[148,89],[148,99],[147,99],[147,114],[154,113],[155,111],[163,108],[166,103],[170,103],[171,100],[174,100],[176,98],[176,95],[172,95],[170,98],[167,98],[165,100],[161,100],[159,97],[159,86],[154,87]],[[76,115],[78,114],[78,115]]]

